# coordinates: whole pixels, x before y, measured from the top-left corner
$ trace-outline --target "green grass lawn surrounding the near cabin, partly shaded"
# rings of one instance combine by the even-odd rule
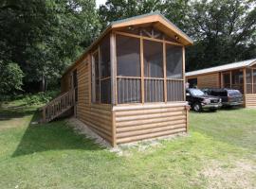
[[[0,188],[256,188],[256,110],[191,112],[188,136],[123,156],[35,110],[0,110]]]

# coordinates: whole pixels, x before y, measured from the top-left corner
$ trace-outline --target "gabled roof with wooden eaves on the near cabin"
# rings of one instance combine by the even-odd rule
[[[127,19],[122,19],[119,21],[115,21],[110,23],[109,26],[101,33],[100,37],[92,43],[84,53],[82,53],[82,56],[76,60],[73,64],[71,64],[66,71],[67,73],[70,69],[72,69],[78,62],[80,62],[87,53],[92,50],[92,48],[101,42],[101,39],[106,36],[112,29],[118,29],[125,26],[139,26],[143,24],[150,24],[153,23],[155,27],[159,28],[160,30],[164,30],[166,33],[170,33],[173,35],[176,35],[179,39],[179,43],[183,45],[192,45],[192,39],[186,35],[183,31],[181,31],[177,26],[174,26],[174,24],[169,21],[167,18],[165,18],[160,12],[152,12],[148,14],[143,14],[139,16],[134,16]]]

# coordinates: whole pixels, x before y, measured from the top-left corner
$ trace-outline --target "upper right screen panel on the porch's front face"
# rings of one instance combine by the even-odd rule
[[[166,44],[166,77],[182,78],[182,47]]]

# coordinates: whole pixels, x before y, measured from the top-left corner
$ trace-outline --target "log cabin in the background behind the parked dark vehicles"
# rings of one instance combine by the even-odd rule
[[[256,108],[256,59],[186,73],[190,87],[237,89],[246,108]]]

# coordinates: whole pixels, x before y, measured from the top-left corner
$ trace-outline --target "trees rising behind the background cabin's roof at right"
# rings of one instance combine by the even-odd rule
[[[253,1],[192,2],[187,69],[196,70],[255,58],[256,8]]]

